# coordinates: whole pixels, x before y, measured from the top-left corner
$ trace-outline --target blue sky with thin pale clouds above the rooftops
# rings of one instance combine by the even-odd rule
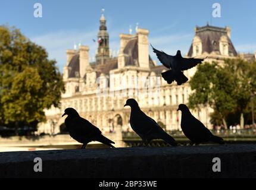
[[[43,17],[33,16],[35,3],[41,3]],[[221,5],[221,17],[213,18],[212,5]],[[101,9],[105,9],[110,48],[119,49],[119,34],[128,33],[136,23],[149,30],[149,42],[169,54],[188,53],[195,26],[210,25],[232,29],[231,39],[238,52],[256,50],[256,1],[231,0],[0,0],[0,25],[9,24],[21,30],[33,42],[46,48],[62,71],[66,49],[74,43],[90,47],[95,55]],[[153,59],[157,59],[150,51]]]

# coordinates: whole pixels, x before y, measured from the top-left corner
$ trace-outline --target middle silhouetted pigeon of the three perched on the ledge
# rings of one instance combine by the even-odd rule
[[[153,139],[162,139],[170,145],[177,145],[174,138],[168,135],[154,119],[142,112],[135,99],[128,99],[124,106],[131,107],[130,125],[133,131],[142,138],[143,143],[147,145]]]

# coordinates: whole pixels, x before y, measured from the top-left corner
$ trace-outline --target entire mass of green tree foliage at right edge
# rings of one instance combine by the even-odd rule
[[[252,94],[256,92],[255,62],[226,59],[224,62],[205,62],[198,66],[190,84],[193,93],[189,106],[210,105],[214,109],[211,121],[234,124],[235,118],[249,115]]]

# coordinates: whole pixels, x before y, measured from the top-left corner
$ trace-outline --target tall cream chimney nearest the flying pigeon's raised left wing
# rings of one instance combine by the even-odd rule
[[[139,66],[142,68],[149,68],[148,34],[146,29],[137,30]]]

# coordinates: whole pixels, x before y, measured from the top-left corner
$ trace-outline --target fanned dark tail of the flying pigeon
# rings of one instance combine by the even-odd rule
[[[174,80],[177,82],[177,85],[186,83],[188,78],[183,74],[182,71],[174,72],[173,70],[168,70],[162,73],[162,77],[167,81],[168,84],[171,84]]]

